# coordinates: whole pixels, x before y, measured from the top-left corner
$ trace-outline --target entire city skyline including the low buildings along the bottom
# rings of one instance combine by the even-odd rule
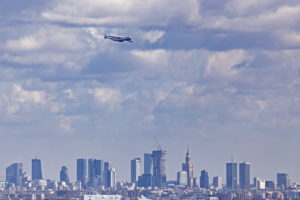
[[[62,199],[70,196],[82,199],[84,194],[133,199],[141,195],[153,199],[300,199],[300,185],[292,184],[288,174],[278,173],[276,182],[259,177],[251,179],[251,164],[248,162],[226,163],[225,183],[220,176],[213,177],[210,182],[206,169],[195,170],[189,149],[181,170],[177,172],[177,180],[167,180],[166,156],[166,151],[157,148],[144,153],[143,159],[135,157],[130,160],[130,182],[117,182],[112,163],[94,158],[76,160],[74,182],[70,181],[66,166],[60,169],[60,180],[53,181],[43,177],[40,159],[32,159],[31,177],[23,170],[22,163],[14,163],[6,168],[6,180],[0,181],[0,200],[1,195],[4,199],[24,199],[8,198],[12,194],[14,197],[28,196],[29,200],[59,199],[60,196]]]

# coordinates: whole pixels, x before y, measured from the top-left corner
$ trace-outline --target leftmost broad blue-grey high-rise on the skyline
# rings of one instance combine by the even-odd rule
[[[14,163],[6,168],[6,181],[8,183],[13,183],[16,186],[22,186],[23,182],[23,164]]]

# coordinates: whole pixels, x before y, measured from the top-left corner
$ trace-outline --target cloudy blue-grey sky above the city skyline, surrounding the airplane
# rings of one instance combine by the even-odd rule
[[[298,0],[1,0],[0,179],[37,157],[129,180],[156,137],[169,180],[189,145],[197,176],[233,158],[300,182],[299,22]]]

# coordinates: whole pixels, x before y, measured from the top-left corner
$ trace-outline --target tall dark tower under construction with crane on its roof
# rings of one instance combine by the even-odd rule
[[[161,149],[152,151],[153,160],[153,186],[164,187],[166,186],[166,151]]]

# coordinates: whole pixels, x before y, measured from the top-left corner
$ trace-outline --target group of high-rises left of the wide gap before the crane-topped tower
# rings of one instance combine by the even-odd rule
[[[6,168],[7,186],[23,187],[31,186],[32,183],[41,183],[43,180],[41,160],[32,159],[31,177],[23,170],[22,163],[14,163]],[[59,172],[60,182],[70,184],[68,168],[62,166]],[[102,187],[116,188],[116,170],[110,162],[97,159],[77,159],[77,180],[75,184],[78,188]]]

